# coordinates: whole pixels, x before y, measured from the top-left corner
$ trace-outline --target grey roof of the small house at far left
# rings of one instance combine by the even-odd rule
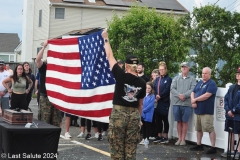
[[[14,52],[19,43],[17,33],[0,33],[0,52]]]

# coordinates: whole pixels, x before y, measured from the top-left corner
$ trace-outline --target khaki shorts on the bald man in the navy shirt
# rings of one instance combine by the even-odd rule
[[[213,132],[213,115],[211,114],[195,114],[195,130],[202,132]]]

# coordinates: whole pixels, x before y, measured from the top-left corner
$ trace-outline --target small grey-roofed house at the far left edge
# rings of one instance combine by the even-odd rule
[[[17,33],[0,33],[0,58],[5,62],[16,62],[14,49],[19,43]]]

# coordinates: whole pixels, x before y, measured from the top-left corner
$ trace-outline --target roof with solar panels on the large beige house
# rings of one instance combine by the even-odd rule
[[[95,3],[90,0],[49,0],[51,3],[63,4],[86,4],[93,6],[113,6],[113,7],[130,7],[136,0],[95,0]],[[177,0],[137,0],[137,3],[142,6],[156,8],[160,10],[188,12]]]

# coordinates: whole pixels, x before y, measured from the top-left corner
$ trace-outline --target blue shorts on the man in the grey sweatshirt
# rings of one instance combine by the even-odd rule
[[[173,114],[175,121],[188,122],[192,115],[192,107],[173,105]]]

